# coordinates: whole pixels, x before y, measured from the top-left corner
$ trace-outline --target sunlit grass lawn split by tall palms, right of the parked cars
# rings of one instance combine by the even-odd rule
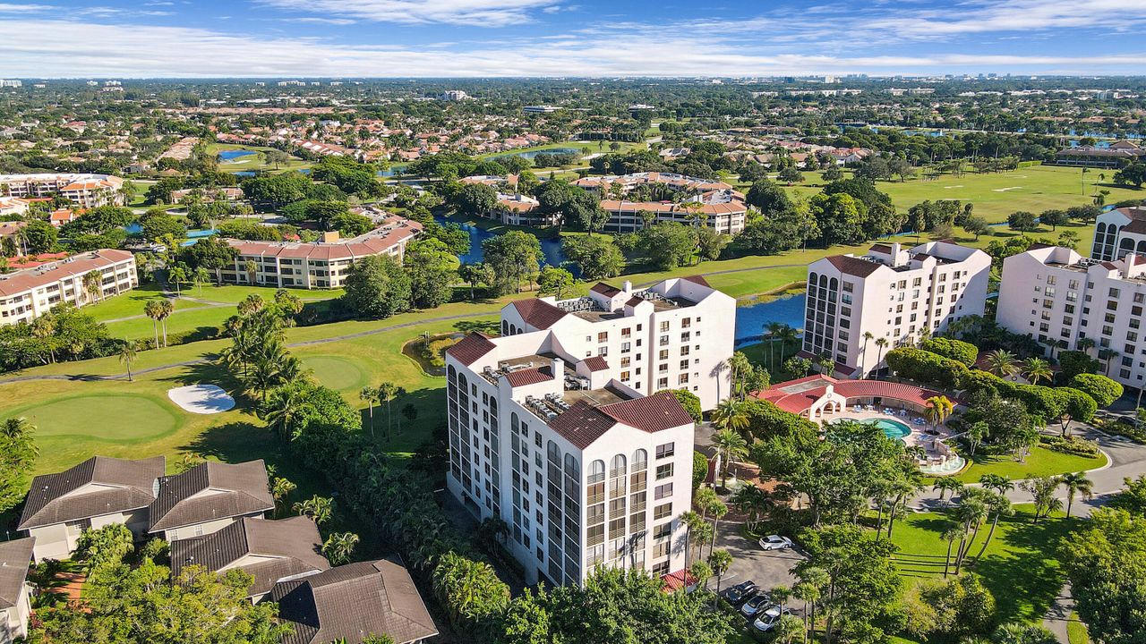
[[[1014,517],[999,521],[982,559],[971,565],[995,596],[999,621],[1042,620],[1065,581],[1057,552],[1070,535],[1075,519],[1059,515],[1033,524],[1031,508],[1015,505]],[[950,519],[942,512],[908,515],[896,521],[892,541],[900,552],[895,564],[905,580],[943,575],[947,542],[940,535],[949,525]],[[984,525],[980,529],[971,548],[972,558],[989,528]]]

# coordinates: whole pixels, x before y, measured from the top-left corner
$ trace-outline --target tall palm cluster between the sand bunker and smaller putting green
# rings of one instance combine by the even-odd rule
[[[270,305],[252,294],[240,303],[238,314],[227,320],[231,345],[221,352],[220,360],[262,402],[270,390],[303,377],[303,363],[286,351],[283,333],[291,315],[300,309],[298,299],[285,291],[278,291]]]

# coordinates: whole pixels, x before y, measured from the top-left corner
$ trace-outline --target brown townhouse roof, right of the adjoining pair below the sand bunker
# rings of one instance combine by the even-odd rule
[[[261,458],[235,464],[207,461],[159,479],[159,493],[149,508],[148,532],[266,512],[274,506]]]

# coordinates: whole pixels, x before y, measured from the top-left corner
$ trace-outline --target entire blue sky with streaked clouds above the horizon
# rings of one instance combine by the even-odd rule
[[[0,78],[1146,73],[1146,0],[0,1]]]

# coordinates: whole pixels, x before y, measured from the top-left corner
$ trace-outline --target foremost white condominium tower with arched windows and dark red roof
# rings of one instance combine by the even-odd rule
[[[474,333],[447,351],[447,487],[479,518],[505,520],[529,583],[581,583],[598,565],[680,571],[692,417],[560,338]]]

